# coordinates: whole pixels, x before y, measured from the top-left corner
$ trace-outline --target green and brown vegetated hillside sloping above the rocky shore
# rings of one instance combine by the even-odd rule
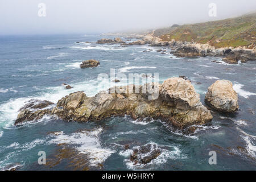
[[[256,13],[213,22],[184,24],[155,30],[162,41],[209,43],[214,47],[255,47]]]

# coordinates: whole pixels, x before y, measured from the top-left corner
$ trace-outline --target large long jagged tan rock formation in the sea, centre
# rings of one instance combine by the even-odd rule
[[[152,89],[143,92],[148,87]],[[183,78],[168,78],[162,85],[152,83],[143,86],[115,86],[109,92],[100,92],[94,97],[86,97],[84,92],[75,92],[61,98],[57,106],[46,111],[47,114],[48,112],[66,121],[78,122],[125,114],[134,119],[159,118],[179,129],[203,125],[212,119],[210,111],[201,104],[199,94],[195,92],[191,82]],[[31,115],[23,112],[23,115],[26,114]],[[26,116],[22,118],[26,119]]]

